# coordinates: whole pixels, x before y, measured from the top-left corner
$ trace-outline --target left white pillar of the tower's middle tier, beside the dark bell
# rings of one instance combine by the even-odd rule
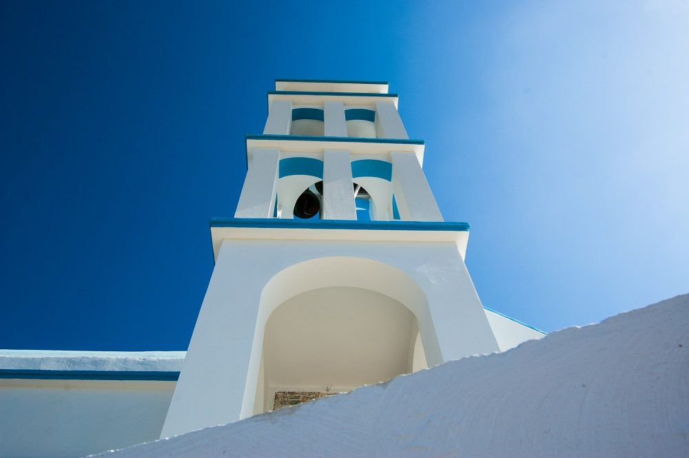
[[[249,158],[249,170],[239,196],[235,218],[272,218],[275,207],[276,181],[280,150],[254,148]]]

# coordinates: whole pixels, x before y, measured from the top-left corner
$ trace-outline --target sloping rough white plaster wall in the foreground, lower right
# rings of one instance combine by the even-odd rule
[[[106,455],[687,457],[689,295]]]

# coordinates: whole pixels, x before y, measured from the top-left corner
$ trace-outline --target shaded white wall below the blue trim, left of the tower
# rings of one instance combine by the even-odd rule
[[[0,379],[0,457],[82,457],[157,439],[174,386]]]

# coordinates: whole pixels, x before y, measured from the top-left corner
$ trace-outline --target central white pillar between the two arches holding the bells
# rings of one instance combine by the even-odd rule
[[[356,220],[351,164],[346,149],[323,152],[323,200],[323,219]]]

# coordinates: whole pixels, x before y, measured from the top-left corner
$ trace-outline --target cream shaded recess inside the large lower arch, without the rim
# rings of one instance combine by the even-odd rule
[[[417,337],[413,313],[387,295],[352,287],[296,295],[265,325],[260,411],[285,404],[285,397],[294,404],[422,368]]]

